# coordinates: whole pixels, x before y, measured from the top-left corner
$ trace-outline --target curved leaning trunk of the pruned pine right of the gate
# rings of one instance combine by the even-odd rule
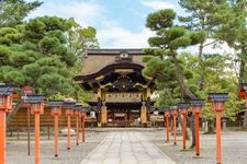
[[[180,85],[181,90],[191,99],[195,99],[194,94],[186,85],[183,70],[182,70],[182,68],[181,68],[181,66],[180,66],[180,63],[179,63],[179,61],[178,61],[178,59],[176,57],[176,54],[172,55],[172,59],[175,61],[176,74],[177,74],[177,79],[178,79],[178,82],[179,82],[179,85]],[[193,148],[195,145],[194,116],[192,115],[191,119],[189,119],[189,120],[190,120],[190,129],[191,129],[191,132],[192,132],[192,141],[191,141],[191,147],[190,148]]]

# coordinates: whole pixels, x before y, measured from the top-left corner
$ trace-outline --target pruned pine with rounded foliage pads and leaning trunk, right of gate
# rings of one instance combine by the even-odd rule
[[[194,99],[197,98],[197,91],[194,90],[194,87],[190,87],[187,83],[187,75],[188,78],[190,78],[191,73],[186,70],[181,60],[179,60],[179,54],[177,52],[177,50],[179,48],[195,45],[204,40],[204,33],[190,32],[183,26],[175,25],[175,20],[176,13],[170,9],[159,10],[157,12],[150,13],[147,16],[146,26],[154,31],[156,33],[156,36],[148,39],[148,43],[153,48],[147,49],[146,52],[157,56],[158,58],[156,58],[156,61],[154,61],[154,57],[148,58],[149,60],[146,59],[147,62],[144,69],[144,74],[153,78],[155,78],[154,75],[160,74],[160,78],[157,77],[157,79],[162,79],[164,82],[166,82],[166,77],[162,75],[166,74],[166,72],[164,72],[164,69],[159,68],[161,68],[160,63],[170,62],[170,66],[172,66],[171,68],[173,68],[170,70],[175,70],[173,73],[176,75],[173,78],[176,78],[177,87],[179,86],[177,91],[181,91],[179,93],[177,92],[177,95],[182,98],[189,97],[191,99]],[[166,67],[166,65],[164,65],[162,67]],[[156,72],[153,72],[154,70]],[[170,92],[169,89],[170,87],[168,87],[168,91]],[[193,119],[191,119],[191,130],[193,133],[192,147],[194,147],[194,124],[192,121]]]

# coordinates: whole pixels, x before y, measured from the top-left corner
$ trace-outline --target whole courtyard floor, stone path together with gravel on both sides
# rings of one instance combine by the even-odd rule
[[[201,134],[201,155],[193,149],[182,150],[181,136],[177,145],[165,140],[164,128],[94,128],[87,131],[86,142],[76,145],[71,139],[71,150],[66,149],[66,137],[59,138],[59,156],[54,157],[54,140],[46,136],[41,139],[41,164],[214,164],[215,134]],[[172,139],[172,137],[170,137]],[[189,145],[189,142],[188,142]],[[224,164],[246,163],[247,132],[224,131],[222,133]],[[27,156],[26,138],[16,140],[13,136],[7,142],[7,163],[31,164],[34,160],[34,142]]]

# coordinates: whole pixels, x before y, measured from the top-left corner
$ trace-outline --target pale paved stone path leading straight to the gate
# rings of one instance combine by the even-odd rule
[[[175,164],[141,132],[109,132],[81,164]]]

